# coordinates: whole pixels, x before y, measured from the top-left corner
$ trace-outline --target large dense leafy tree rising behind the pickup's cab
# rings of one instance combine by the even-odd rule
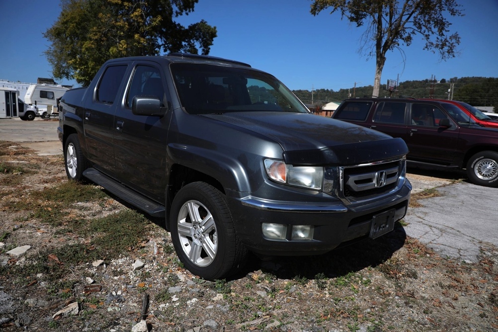
[[[90,84],[113,58],[168,52],[208,54],[217,35],[206,21],[184,27],[174,21],[198,0],[61,0],[57,21],[43,34],[45,55],[58,79]],[[164,52],[164,53],[163,53]]]

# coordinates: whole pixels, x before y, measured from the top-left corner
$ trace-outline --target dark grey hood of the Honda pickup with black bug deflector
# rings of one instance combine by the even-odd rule
[[[401,138],[356,124],[308,113],[229,112],[203,115],[280,144],[286,163],[353,165],[408,153]]]

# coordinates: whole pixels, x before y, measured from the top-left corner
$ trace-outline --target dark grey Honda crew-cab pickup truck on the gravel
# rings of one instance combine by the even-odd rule
[[[106,62],[60,102],[69,179],[165,220],[202,278],[248,250],[314,255],[376,238],[406,214],[406,144],[311,114],[275,77],[191,54]]]

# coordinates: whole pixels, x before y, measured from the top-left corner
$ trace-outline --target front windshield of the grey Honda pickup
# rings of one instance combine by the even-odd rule
[[[180,102],[190,114],[235,111],[309,112],[276,78],[256,70],[173,63],[171,72]]]

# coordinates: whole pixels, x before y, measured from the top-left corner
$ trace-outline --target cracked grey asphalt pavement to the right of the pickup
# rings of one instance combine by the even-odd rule
[[[498,188],[460,182],[437,191],[441,196],[423,199],[422,207],[408,210],[407,235],[442,257],[468,262],[478,261],[482,242],[498,246]]]

